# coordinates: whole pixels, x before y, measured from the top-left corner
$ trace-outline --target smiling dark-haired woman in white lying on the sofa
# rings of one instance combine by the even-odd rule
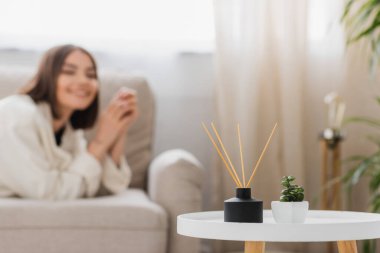
[[[73,199],[126,189],[122,154],[136,94],[115,94],[87,146],[82,129],[97,119],[98,85],[91,54],[64,45],[47,51],[22,94],[0,100],[0,196]]]

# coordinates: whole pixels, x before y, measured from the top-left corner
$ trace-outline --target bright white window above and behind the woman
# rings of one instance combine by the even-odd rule
[[[210,50],[212,0],[0,0],[0,47]]]

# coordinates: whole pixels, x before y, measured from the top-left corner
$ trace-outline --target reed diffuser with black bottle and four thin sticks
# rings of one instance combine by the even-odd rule
[[[226,166],[226,169],[228,173],[230,174],[232,180],[236,184],[236,197],[224,201],[224,221],[225,222],[262,223],[263,222],[263,201],[252,198],[251,188],[249,187],[249,185],[255,177],[257,168],[259,167],[260,162],[262,158],[264,157],[264,154],[268,148],[270,140],[272,139],[272,136],[277,128],[277,123],[272,129],[272,132],[264,146],[264,149],[261,152],[259,160],[257,161],[256,165],[254,166],[252,170],[252,173],[248,179],[248,182],[246,182],[245,180],[246,178],[245,178],[245,169],[244,169],[243,148],[242,148],[242,143],[241,143],[239,124],[237,125],[237,135],[238,135],[239,148],[240,148],[242,181],[240,180],[238,174],[236,173],[236,169],[231,162],[231,159],[223,145],[222,139],[220,138],[220,135],[218,131],[216,130],[215,125],[211,123],[212,130],[216,136],[216,139],[218,140],[219,145],[216,143],[214,137],[211,135],[210,131],[208,130],[208,128],[205,126],[204,123],[202,123],[202,126],[204,130],[206,131],[208,137],[210,138],[212,144],[214,145],[218,155],[220,156],[224,165]],[[223,153],[221,150],[223,151]]]

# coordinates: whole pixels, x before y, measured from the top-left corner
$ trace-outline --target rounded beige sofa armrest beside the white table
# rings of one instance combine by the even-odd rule
[[[150,165],[148,194],[169,217],[169,253],[198,253],[200,240],[177,234],[177,216],[202,209],[203,167],[189,152],[175,149],[157,156]]]

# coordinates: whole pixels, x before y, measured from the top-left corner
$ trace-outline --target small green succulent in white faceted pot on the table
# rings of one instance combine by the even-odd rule
[[[302,186],[292,184],[293,176],[284,176],[281,185],[285,188],[281,192],[280,201],[272,201],[273,218],[277,223],[303,223],[305,222],[309,202],[303,201],[304,189]]]

